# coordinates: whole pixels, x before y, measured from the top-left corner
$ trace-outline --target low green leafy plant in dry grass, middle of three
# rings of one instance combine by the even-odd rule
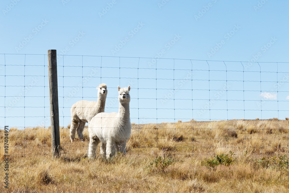
[[[234,152],[229,151],[230,155],[224,155],[224,154],[220,154],[220,155],[215,155],[214,158],[212,159],[204,159],[201,162],[202,166],[209,166],[214,168],[215,166],[218,165],[225,165],[225,166],[229,166],[231,165],[235,159],[232,157],[232,155],[235,155]]]

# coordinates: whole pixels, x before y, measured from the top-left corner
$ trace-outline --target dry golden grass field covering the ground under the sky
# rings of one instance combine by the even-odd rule
[[[84,142],[60,128],[51,159],[50,128],[9,132],[9,189],[1,192],[288,192],[288,120],[132,124],[127,154],[86,158]],[[97,152],[99,153],[99,148]]]

